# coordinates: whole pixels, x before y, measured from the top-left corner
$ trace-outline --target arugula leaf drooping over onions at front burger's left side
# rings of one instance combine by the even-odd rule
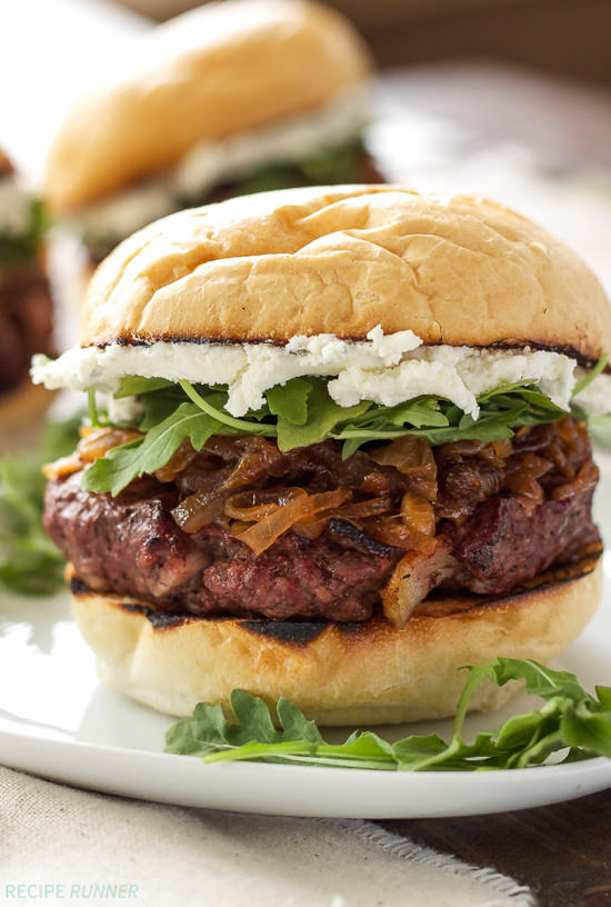
[[[181,403],[171,416],[152,428],[144,438],[114,447],[84,472],[87,491],[110,491],[116,497],[133,479],[166,466],[186,438],[201,450],[220,422],[193,403]]]

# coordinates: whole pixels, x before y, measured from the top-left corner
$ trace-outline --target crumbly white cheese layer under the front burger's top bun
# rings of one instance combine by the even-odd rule
[[[328,376],[329,393],[343,407],[360,400],[394,406],[424,393],[444,397],[473,418],[477,398],[515,381],[529,381],[569,408],[580,369],[568,356],[544,350],[489,350],[472,347],[424,347],[412,331],[384,335],[373,328],[363,341],[341,340],[331,333],[293,337],[272,343],[192,343],[73,348],[59,359],[36,356],[32,380],[50,389],[94,388],[113,392],[122,377],[184,379],[193,383],[227,385],[228,411],[244,416],[259,409],[264,391],[300,376]],[[579,398],[592,412],[611,409],[611,378],[599,376]]]

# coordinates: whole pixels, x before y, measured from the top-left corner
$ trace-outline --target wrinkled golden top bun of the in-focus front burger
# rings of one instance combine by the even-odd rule
[[[364,339],[377,325],[424,343],[611,350],[608,299],[567,246],[494,202],[392,186],[263,192],[150,225],[96,272],[80,342]]]

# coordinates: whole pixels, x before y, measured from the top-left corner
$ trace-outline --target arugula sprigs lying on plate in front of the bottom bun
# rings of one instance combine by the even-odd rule
[[[200,756],[204,763],[250,760],[389,771],[527,768],[542,765],[552,754],[558,754],[557,761],[611,757],[611,687],[597,687],[592,696],[574,674],[513,658],[495,658],[468,670],[449,741],[428,734],[389,742],[372,731],[354,731],[343,744],[328,744],[315,724],[289,700],[278,700],[276,728],[262,699],[236,689],[231,708],[237,725],[227,720],[219,705],[200,702],[190,718],[169,729],[166,751]],[[467,710],[474,690],[487,679],[497,686],[524,681],[525,691],[544,701],[538,711],[514,715],[498,730],[467,742],[462,737]]]

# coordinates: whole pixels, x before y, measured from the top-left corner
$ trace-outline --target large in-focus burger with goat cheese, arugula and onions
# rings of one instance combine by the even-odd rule
[[[239,687],[362,725],[549,659],[600,595],[610,348],[584,262],[480,198],[298,188],[136,233],[32,372],[89,395],[44,525],[100,675],[178,716]]]

